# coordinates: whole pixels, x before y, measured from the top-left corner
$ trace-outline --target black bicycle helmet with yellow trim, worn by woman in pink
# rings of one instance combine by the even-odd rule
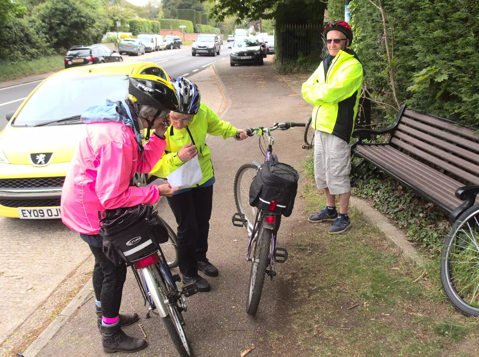
[[[150,74],[130,75],[128,93],[139,104],[151,105],[159,110],[178,110],[174,87],[160,77]]]

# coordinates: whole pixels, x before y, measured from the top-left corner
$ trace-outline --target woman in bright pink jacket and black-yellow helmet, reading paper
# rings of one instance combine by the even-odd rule
[[[147,346],[143,339],[126,335],[121,326],[138,320],[136,313],[120,315],[125,263],[115,266],[103,253],[99,221],[105,209],[153,204],[160,196],[178,189],[169,184],[130,186],[135,172],[148,173],[165,149],[169,113],[176,110],[175,89],[151,75],[129,76],[125,101],[86,109],[81,120],[87,123],[71,161],[61,197],[62,221],[80,233],[95,257],[93,289],[98,328],[105,352],[135,352]],[[142,146],[143,129],[148,129]],[[150,137],[150,130],[155,130]]]

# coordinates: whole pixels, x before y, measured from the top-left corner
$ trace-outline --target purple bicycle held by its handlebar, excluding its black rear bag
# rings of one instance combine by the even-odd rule
[[[271,136],[271,131],[305,126],[305,123],[287,121],[274,123],[272,128],[248,128],[245,131],[248,136],[253,136],[255,133],[260,136],[260,149],[264,155],[264,163],[266,163],[271,160],[277,161],[276,155],[273,154],[274,137]],[[264,133],[268,138],[266,150],[263,150],[261,143]],[[270,202],[269,211],[250,206],[250,184],[260,167],[261,163],[258,161],[242,165],[236,173],[234,183],[234,196],[238,212],[233,215],[232,223],[233,226],[245,226],[249,236],[246,261],[251,261],[251,273],[246,298],[246,312],[251,316],[254,316],[258,309],[265,275],[273,280],[276,275],[274,263],[284,263],[288,259],[287,250],[276,247],[276,233],[281,224],[281,214],[271,212],[274,211],[276,202]]]

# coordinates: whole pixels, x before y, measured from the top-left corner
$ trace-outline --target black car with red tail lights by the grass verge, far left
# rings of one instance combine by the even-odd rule
[[[73,46],[65,56],[65,68],[121,61],[123,59],[116,51],[102,44]]]

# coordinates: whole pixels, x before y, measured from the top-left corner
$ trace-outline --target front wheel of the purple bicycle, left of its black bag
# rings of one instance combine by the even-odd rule
[[[238,213],[244,214],[247,222],[246,228],[253,231],[257,208],[250,206],[250,185],[256,176],[258,167],[252,163],[239,167],[235,176],[234,196]]]

